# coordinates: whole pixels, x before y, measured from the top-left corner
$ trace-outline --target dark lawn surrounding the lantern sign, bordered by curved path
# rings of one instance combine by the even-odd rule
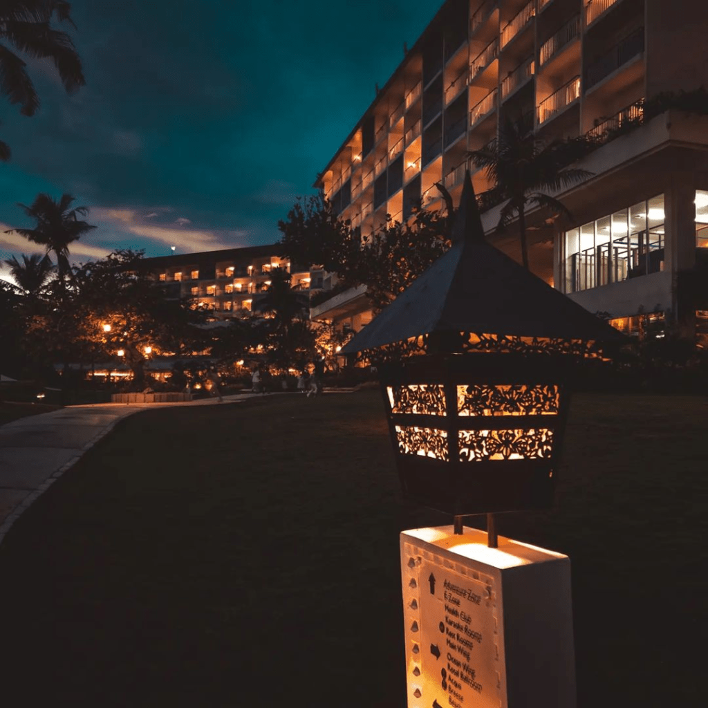
[[[581,708],[699,700],[708,403],[578,396],[556,509]],[[127,418],[0,545],[8,706],[404,708],[399,498],[375,392]]]

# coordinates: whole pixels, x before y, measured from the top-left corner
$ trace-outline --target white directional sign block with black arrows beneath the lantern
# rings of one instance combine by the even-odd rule
[[[567,556],[452,526],[401,533],[409,708],[574,708]]]

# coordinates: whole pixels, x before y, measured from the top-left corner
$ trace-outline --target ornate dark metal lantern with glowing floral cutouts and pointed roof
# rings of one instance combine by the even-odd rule
[[[397,355],[379,378],[404,493],[461,530],[552,505],[567,365],[622,339],[486,243],[468,174],[450,250],[343,352]]]

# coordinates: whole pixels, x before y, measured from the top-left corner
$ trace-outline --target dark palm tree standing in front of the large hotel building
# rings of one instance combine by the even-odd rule
[[[566,167],[583,154],[583,142],[582,138],[556,139],[546,144],[532,132],[526,132],[520,122],[507,118],[501,123],[498,138],[469,154],[494,184],[487,198],[494,203],[508,200],[501,210],[497,229],[503,230],[518,217],[521,259],[527,270],[526,212],[529,207],[542,207],[556,216],[572,218],[559,200],[545,192],[571,187],[593,175],[587,170]]]

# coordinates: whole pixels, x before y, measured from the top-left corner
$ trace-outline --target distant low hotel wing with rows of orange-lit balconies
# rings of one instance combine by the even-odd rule
[[[190,300],[193,307],[226,319],[251,312],[277,268],[290,273],[291,287],[309,292],[309,270],[278,253],[275,245],[249,246],[144,258],[143,264],[164,283],[166,297]]]

